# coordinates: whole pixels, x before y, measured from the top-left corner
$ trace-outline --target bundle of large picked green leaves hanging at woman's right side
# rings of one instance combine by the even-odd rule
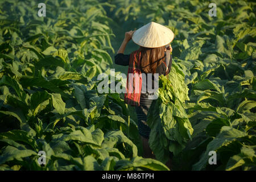
[[[158,100],[151,104],[147,115],[150,147],[163,163],[170,158],[170,152],[179,154],[192,139],[193,128],[184,109],[185,100],[189,100],[187,91],[184,73],[174,62],[168,78],[160,77]]]

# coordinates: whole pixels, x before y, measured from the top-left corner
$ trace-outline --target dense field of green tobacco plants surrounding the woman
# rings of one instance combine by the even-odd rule
[[[254,1],[51,0],[46,17],[39,3],[0,1],[0,170],[256,170]],[[155,159],[134,107],[97,90],[127,73],[113,61],[125,32],[151,21],[175,34],[147,115]]]

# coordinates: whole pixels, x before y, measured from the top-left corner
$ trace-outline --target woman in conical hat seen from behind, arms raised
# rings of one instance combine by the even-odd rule
[[[127,43],[133,39],[134,43],[138,44],[140,48],[130,55],[124,55],[125,47]],[[137,31],[129,31],[125,33],[125,39],[123,40],[121,47],[119,48],[117,55],[115,55],[115,64],[127,66],[134,61],[134,55],[136,53],[135,63],[139,64],[141,73],[159,73],[160,75],[167,75],[171,70],[171,61],[166,61],[165,52],[167,49],[172,51],[170,43],[174,39],[174,33],[167,27],[164,27],[158,23],[151,22],[139,28]],[[167,46],[167,49],[166,49]],[[138,53],[140,56],[138,56]],[[167,63],[168,68],[167,68]],[[131,65],[129,65],[130,67]],[[146,77],[147,79],[148,77]],[[153,78],[154,79],[154,78]],[[128,79],[127,79],[128,81]],[[143,80],[143,84],[147,85],[147,80]],[[154,84],[154,80],[152,82]],[[148,145],[148,138],[150,135],[150,127],[147,126],[147,111],[151,105],[152,100],[149,99],[150,93],[140,94],[139,106],[135,107],[138,118],[138,129],[141,135],[144,158],[154,158],[152,151]]]

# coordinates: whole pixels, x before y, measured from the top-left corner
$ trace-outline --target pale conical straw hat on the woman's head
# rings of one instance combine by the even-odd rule
[[[171,43],[174,40],[174,32],[162,24],[150,22],[135,31],[132,39],[139,46],[156,48]]]

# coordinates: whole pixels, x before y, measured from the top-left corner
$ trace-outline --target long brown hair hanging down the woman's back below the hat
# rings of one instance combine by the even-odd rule
[[[140,47],[141,51],[141,69],[145,73],[155,73],[156,68],[164,61],[164,49],[166,47],[146,48]]]

